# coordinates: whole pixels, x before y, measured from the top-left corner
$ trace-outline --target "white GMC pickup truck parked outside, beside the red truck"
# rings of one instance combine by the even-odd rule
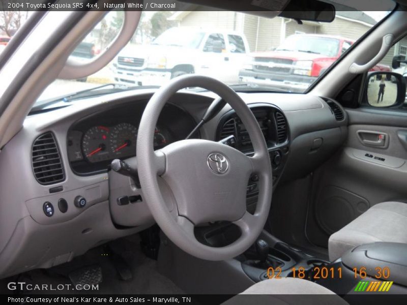
[[[241,33],[172,27],[150,45],[127,45],[114,60],[114,79],[125,84],[161,85],[173,77],[196,73],[237,83],[248,53]]]

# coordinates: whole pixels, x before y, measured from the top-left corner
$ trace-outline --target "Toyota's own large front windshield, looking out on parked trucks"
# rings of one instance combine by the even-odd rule
[[[338,0],[339,1],[339,0]],[[92,95],[125,89],[160,87],[172,78],[200,74],[216,78],[236,90],[304,93],[324,72],[388,11],[336,11],[332,22],[259,17],[253,12],[143,11],[128,44],[103,69],[75,80],[56,79],[37,104],[52,107]],[[0,18],[0,52],[13,39],[16,24],[28,15],[8,12]],[[18,19],[18,20],[17,20]],[[119,33],[123,11],[111,11],[79,43],[71,57],[93,60]],[[30,50],[27,50],[27,54]],[[377,71],[392,71],[389,52]],[[108,87],[101,85],[111,84]],[[196,88],[187,88],[196,90]],[[83,90],[91,92],[83,93]],[[80,95],[76,95],[79,93]]]

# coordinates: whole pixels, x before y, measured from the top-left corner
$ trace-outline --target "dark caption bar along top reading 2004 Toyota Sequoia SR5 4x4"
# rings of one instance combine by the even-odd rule
[[[337,0],[343,3],[343,0]],[[276,5],[278,3],[278,5]],[[393,0],[358,0],[350,6],[337,4],[329,0],[219,0],[212,3],[217,10],[229,11],[313,11],[321,12],[327,6],[334,6],[336,11],[392,11]],[[206,0],[0,0],[0,11],[212,11]],[[405,10],[406,7],[400,7]]]

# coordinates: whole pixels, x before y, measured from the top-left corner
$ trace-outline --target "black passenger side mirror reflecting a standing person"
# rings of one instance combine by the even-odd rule
[[[370,72],[365,90],[365,100],[370,106],[399,106],[405,100],[405,78],[394,72]]]

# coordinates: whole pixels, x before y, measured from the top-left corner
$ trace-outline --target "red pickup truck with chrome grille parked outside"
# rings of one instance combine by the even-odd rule
[[[353,43],[336,36],[292,35],[274,51],[252,53],[250,62],[239,71],[239,81],[302,93]],[[371,71],[391,69],[379,64]]]

